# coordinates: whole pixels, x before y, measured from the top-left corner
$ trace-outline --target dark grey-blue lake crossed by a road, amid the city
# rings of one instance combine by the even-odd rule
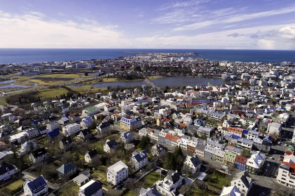
[[[213,85],[223,85],[227,82],[220,78],[186,78],[186,77],[165,77],[159,78],[155,80],[151,80],[153,84],[159,87],[165,86],[183,86],[190,85],[195,87],[197,84],[207,85],[210,81],[210,84]],[[114,82],[114,83],[96,83],[93,84],[93,87],[107,88],[108,86],[116,87],[116,86],[142,86],[148,85],[145,81],[130,81],[130,82]]]

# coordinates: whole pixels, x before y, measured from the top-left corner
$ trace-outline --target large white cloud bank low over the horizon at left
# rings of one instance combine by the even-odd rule
[[[39,12],[0,12],[0,48],[118,48],[129,43],[118,26],[49,20]]]

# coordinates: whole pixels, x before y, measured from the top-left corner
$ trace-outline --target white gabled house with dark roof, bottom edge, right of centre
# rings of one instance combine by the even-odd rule
[[[247,196],[252,187],[252,182],[253,180],[248,172],[241,171],[239,173],[236,173],[231,182],[231,186],[236,186],[239,192],[243,194],[243,196]]]

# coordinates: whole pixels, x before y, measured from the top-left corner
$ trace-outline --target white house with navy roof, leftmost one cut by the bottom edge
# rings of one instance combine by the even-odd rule
[[[43,196],[48,194],[48,181],[43,175],[34,180],[27,179],[24,183],[25,196]]]

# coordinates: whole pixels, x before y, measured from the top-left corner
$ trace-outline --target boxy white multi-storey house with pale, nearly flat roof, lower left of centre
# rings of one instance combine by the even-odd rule
[[[118,185],[126,178],[128,178],[128,167],[122,161],[118,161],[107,169],[107,179],[112,185]]]

